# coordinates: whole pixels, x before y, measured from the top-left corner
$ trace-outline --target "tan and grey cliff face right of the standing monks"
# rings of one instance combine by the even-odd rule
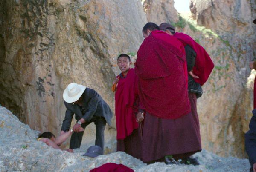
[[[197,23],[218,34],[224,43],[215,49],[206,46],[208,52],[215,51],[215,59],[226,59],[215,60],[215,74],[232,73],[225,79],[221,79],[225,75],[222,74],[219,80],[217,75],[212,75],[215,88],[217,85],[223,88],[215,95],[204,95],[198,102],[204,147],[222,156],[246,156],[244,133],[248,130],[253,109],[255,74],[250,75],[248,64],[256,58],[256,25],[253,24],[256,1],[191,0],[190,9]],[[229,66],[228,70],[223,70],[225,65]],[[211,84],[212,81],[210,79]]]

